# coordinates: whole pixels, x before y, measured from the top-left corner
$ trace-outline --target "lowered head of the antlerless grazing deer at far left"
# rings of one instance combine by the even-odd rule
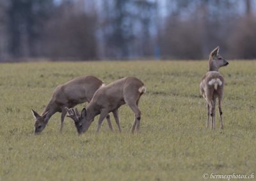
[[[33,116],[35,117],[35,134],[41,133],[49,120],[49,111],[45,112],[44,115],[39,115],[33,109],[31,109]]]

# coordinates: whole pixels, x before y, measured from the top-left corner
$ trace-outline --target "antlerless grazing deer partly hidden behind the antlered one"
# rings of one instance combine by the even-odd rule
[[[67,114],[65,107],[73,108],[74,106],[90,102],[93,94],[104,86],[104,83],[95,76],[80,76],[70,80],[63,85],[56,87],[52,94],[52,98],[48,105],[45,107],[44,112],[41,115],[31,109],[36,121],[35,121],[35,134],[41,133],[47,125],[49,119],[56,112],[61,112],[61,126],[60,131],[63,128],[63,122]],[[109,128],[112,129],[109,116],[107,116]]]

